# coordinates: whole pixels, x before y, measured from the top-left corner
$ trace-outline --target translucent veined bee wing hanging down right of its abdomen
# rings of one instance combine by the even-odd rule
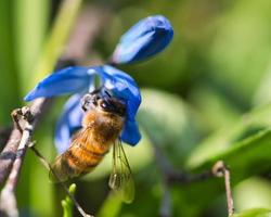
[[[120,194],[124,202],[131,203],[133,201],[134,182],[120,140],[115,141],[113,145],[113,170],[108,184],[111,189]]]

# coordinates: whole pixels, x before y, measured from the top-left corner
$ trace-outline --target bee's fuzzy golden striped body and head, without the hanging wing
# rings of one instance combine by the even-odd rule
[[[82,129],[74,136],[69,149],[53,163],[50,176],[53,180],[65,181],[94,169],[124,127],[126,107],[116,98],[88,93],[81,106],[85,111]]]

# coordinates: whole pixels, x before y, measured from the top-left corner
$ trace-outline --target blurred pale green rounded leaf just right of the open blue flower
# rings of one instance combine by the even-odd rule
[[[190,107],[178,95],[165,91],[144,89],[142,99],[138,115],[140,126],[155,145],[181,165],[198,141]]]

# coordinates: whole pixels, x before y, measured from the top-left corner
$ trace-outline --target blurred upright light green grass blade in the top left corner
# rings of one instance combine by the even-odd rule
[[[34,67],[44,41],[50,15],[48,0],[15,0],[14,11],[14,42],[15,58],[20,73],[23,94],[33,77]]]

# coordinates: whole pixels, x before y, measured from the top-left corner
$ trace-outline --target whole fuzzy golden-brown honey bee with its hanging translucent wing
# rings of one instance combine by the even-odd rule
[[[55,158],[50,171],[51,180],[65,181],[92,171],[113,145],[108,186],[120,193],[124,202],[132,202],[133,179],[118,138],[125,123],[125,103],[107,91],[96,90],[83,95],[81,107],[85,111],[82,129],[74,136],[68,150]]]

